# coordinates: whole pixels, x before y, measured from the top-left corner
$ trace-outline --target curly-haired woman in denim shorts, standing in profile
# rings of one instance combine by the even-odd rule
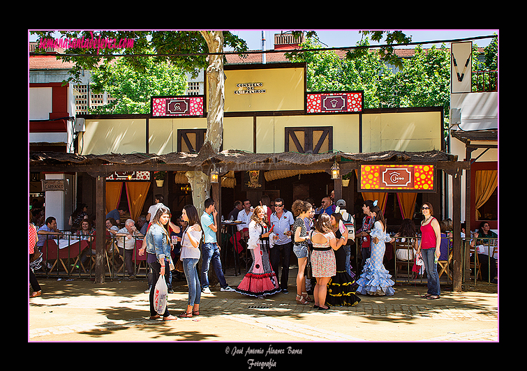
[[[292,225],[292,236],[293,245],[292,250],[297,255],[298,259],[298,273],[297,273],[297,303],[309,304],[313,302],[306,290],[306,278],[304,271],[306,270],[306,264],[308,259],[308,241],[309,236],[307,234],[306,223],[304,218],[308,218],[311,215],[311,204],[309,202],[297,199],[292,203],[291,211],[292,215],[295,216],[295,222]]]

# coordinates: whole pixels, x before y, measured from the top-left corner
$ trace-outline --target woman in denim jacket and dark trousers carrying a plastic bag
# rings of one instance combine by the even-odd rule
[[[160,207],[156,215],[154,215],[147,235],[144,237],[147,241],[145,245],[148,254],[147,263],[152,272],[152,287],[155,287],[159,277],[167,274],[170,269],[170,236],[168,236],[168,231],[165,228],[168,220],[170,220],[170,210],[168,207]],[[139,255],[143,255],[144,250],[145,248],[140,248]],[[155,291],[155,289],[150,290],[150,319],[158,319],[161,317],[154,307]],[[173,321],[175,319],[177,318],[168,312],[167,306],[163,313],[163,321]]]

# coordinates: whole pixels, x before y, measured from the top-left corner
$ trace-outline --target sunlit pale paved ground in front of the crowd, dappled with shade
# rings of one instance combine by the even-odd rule
[[[28,340],[498,342],[496,285],[478,282],[476,289],[462,293],[445,287],[434,301],[420,297],[424,285],[396,285],[394,296],[360,296],[355,307],[318,312],[295,302],[295,275],[292,268],[290,294],[263,300],[212,287],[212,294],[202,294],[200,316],[171,322],[148,319],[145,281],[107,278],[96,285],[89,279],[40,278],[43,295],[29,299]],[[232,287],[242,280],[232,271],[226,278]],[[186,309],[187,288],[185,281],[174,283],[169,310],[178,315]],[[225,353],[232,349],[225,348]]]

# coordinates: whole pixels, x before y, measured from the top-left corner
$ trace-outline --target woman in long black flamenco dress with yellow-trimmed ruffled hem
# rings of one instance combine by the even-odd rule
[[[334,251],[336,274],[327,283],[326,303],[338,307],[354,306],[359,303],[360,298],[355,295],[355,280],[346,271],[346,250],[343,245],[348,241],[348,229],[341,223],[341,213],[332,213],[330,220],[337,241]]]

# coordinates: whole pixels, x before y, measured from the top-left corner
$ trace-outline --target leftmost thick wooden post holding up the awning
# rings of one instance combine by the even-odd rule
[[[98,231],[95,243],[95,282],[105,283],[105,254],[106,248],[106,174],[96,175],[95,187],[96,225]]]

